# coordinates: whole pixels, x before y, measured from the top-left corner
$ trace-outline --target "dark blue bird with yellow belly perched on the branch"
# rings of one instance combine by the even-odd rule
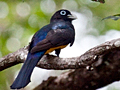
[[[16,77],[11,89],[21,89],[31,80],[31,74],[43,55],[55,50],[59,57],[61,49],[72,46],[75,40],[75,29],[72,21],[76,19],[69,10],[60,9],[50,19],[50,23],[43,26],[32,37],[28,48],[27,58]]]

